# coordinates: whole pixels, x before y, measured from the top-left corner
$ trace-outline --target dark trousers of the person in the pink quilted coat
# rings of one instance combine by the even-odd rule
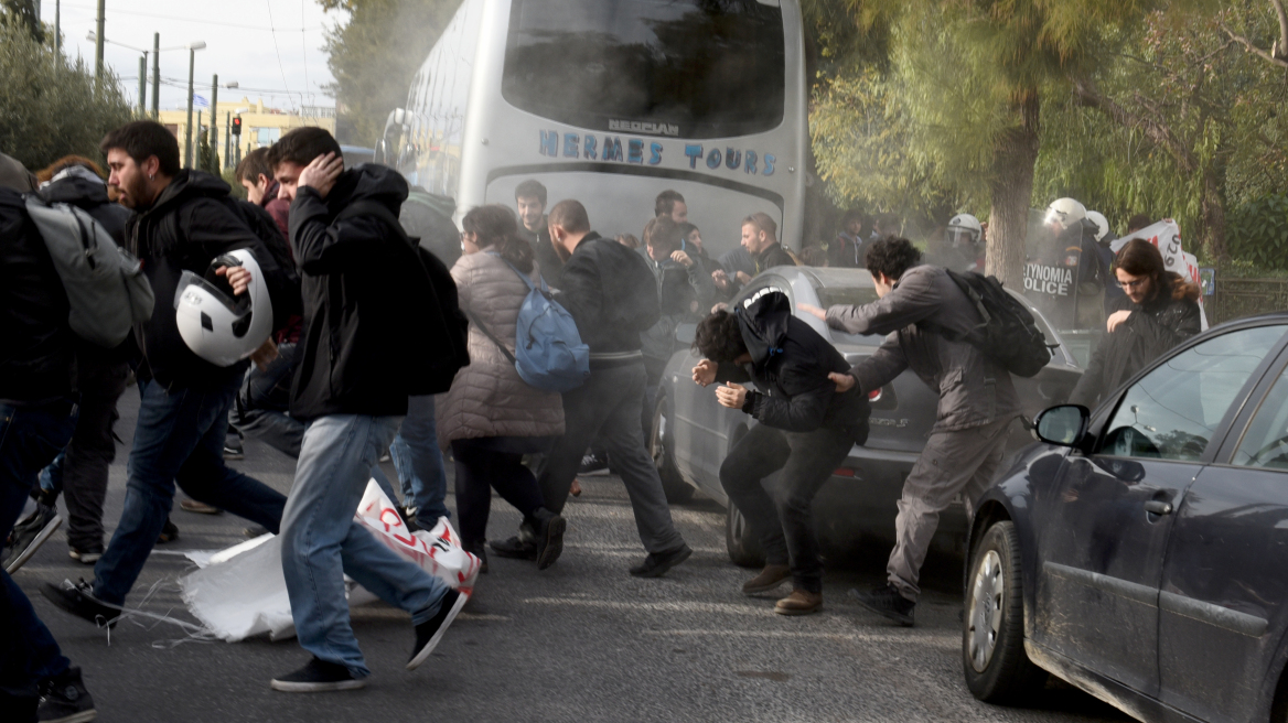
[[[474,549],[487,539],[492,490],[523,513],[524,520],[544,504],[537,477],[523,464],[523,453],[496,452],[491,440],[452,440],[456,458],[456,522],[461,542]]]

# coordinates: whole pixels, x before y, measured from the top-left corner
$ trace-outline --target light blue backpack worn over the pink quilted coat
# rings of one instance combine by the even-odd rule
[[[506,265],[528,284],[528,296],[519,306],[514,354],[474,314],[466,311],[466,315],[514,363],[529,386],[558,392],[580,387],[590,378],[590,347],[582,343],[572,314],[551,297],[545,279],[537,288],[527,274],[509,261]]]

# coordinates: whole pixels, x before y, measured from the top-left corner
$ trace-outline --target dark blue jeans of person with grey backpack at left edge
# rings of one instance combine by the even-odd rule
[[[9,535],[27,502],[36,475],[67,445],[76,428],[70,400],[31,407],[0,404],[0,531]],[[70,663],[31,601],[0,570],[0,708],[13,699],[33,699],[37,683],[62,674]]]

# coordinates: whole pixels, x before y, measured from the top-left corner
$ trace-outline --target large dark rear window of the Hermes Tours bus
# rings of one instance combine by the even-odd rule
[[[501,95],[586,129],[748,135],[783,121],[784,55],[756,0],[515,0]]]

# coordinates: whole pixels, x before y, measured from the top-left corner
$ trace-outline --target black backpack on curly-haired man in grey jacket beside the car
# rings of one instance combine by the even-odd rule
[[[1002,288],[997,277],[953,270],[948,270],[948,277],[984,319],[984,323],[957,341],[975,346],[984,356],[1016,377],[1037,376],[1051,362],[1051,349],[1033,320],[1033,314]]]

